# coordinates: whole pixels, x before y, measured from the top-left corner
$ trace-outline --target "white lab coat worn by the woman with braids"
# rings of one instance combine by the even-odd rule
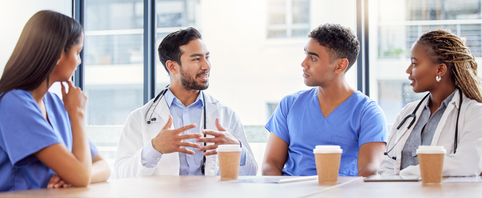
[[[447,150],[445,158],[443,159],[443,176],[474,176],[482,172],[482,104],[467,98],[465,94],[462,94],[463,103],[460,108],[458,123],[457,150],[454,154],[455,122],[457,120],[457,110],[460,102],[459,94],[459,91],[455,92],[452,101],[450,101],[445,109],[431,143],[431,145],[443,146]],[[397,160],[388,158],[388,156],[383,157],[379,169],[381,175],[420,175],[420,165],[409,166],[400,171],[400,163],[403,146],[408,136],[410,136],[418,118],[420,118],[427,100],[428,97],[416,111],[415,123],[388,154],[390,156],[395,155]],[[402,119],[411,114],[419,102],[420,101],[410,103],[402,109],[393,124],[390,137],[396,131]],[[405,121],[396,136],[392,138],[389,145],[387,145],[388,149],[400,138],[410,121],[411,119]]]

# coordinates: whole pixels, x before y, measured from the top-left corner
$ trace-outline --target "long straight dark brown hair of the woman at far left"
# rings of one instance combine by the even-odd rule
[[[48,79],[62,50],[78,44],[82,26],[54,11],[35,13],[25,24],[0,79],[0,100],[14,89],[31,91]]]

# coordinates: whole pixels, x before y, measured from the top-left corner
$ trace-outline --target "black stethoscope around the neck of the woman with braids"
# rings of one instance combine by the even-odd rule
[[[460,107],[462,107],[462,90],[460,89],[460,87],[458,85],[455,85],[455,88],[457,88],[457,90],[460,92],[459,94],[459,98],[460,98],[460,102],[458,103],[458,112],[457,112],[457,122],[455,122],[455,143],[454,143],[454,154],[455,154],[455,151],[457,150],[457,137],[458,137],[458,117],[460,115]],[[425,95],[422,100],[420,100],[420,102],[417,104],[417,106],[415,107],[414,111],[412,112],[412,114],[406,116],[404,119],[402,119],[402,122],[400,122],[400,124],[398,125],[397,127],[397,130],[395,130],[395,132],[392,134],[392,136],[388,139],[388,143],[387,143],[387,148],[386,150],[388,150],[389,148],[389,144],[391,142],[391,140],[393,139],[393,137],[395,137],[395,135],[397,134],[398,130],[402,127],[402,125],[405,123],[405,121],[407,121],[407,119],[409,118],[412,118],[412,120],[410,121],[410,124],[408,124],[407,128],[405,129],[405,131],[403,131],[402,135],[400,136],[400,138],[398,138],[398,140],[395,142],[395,144],[393,146],[391,146],[391,148],[384,152],[383,155],[386,155],[388,156],[389,158],[392,158],[392,159],[395,159],[397,160],[397,157],[396,156],[393,156],[393,157],[390,157],[388,155],[388,153],[393,150],[393,148],[395,148],[395,146],[398,144],[398,142],[400,142],[400,140],[402,139],[403,135],[405,135],[405,133],[408,131],[408,129],[410,129],[410,127],[412,127],[412,125],[415,123],[415,119],[416,119],[416,116],[415,116],[415,113],[417,112],[418,110],[418,107],[420,107],[420,105],[422,105],[423,101],[430,95],[430,93],[428,93],[427,95]]]

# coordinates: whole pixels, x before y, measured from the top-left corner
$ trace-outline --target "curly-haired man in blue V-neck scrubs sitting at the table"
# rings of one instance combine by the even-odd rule
[[[316,145],[343,149],[339,176],[376,174],[388,132],[380,106],[345,79],[360,42],[340,25],[314,29],[301,63],[305,84],[314,87],[285,96],[266,124],[270,132],[263,175],[316,175]]]

